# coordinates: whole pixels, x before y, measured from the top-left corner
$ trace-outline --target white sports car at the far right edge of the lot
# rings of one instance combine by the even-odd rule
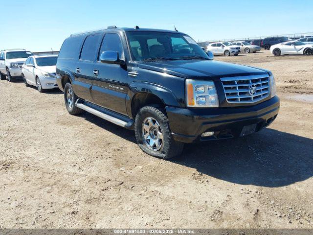
[[[299,41],[285,42],[270,47],[270,52],[275,55],[312,55],[313,44],[304,44]]]

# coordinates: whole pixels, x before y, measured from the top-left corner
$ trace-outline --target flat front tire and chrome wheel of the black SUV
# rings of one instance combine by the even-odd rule
[[[134,130],[139,147],[151,156],[170,159],[182,152],[184,144],[173,139],[166,112],[161,107],[142,107],[136,115]]]

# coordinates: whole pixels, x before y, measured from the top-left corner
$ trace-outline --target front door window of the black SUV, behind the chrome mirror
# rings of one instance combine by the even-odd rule
[[[103,51],[112,50],[117,51],[120,59],[124,58],[123,47],[121,39],[116,33],[108,33],[104,36],[101,48],[98,55],[98,60]]]

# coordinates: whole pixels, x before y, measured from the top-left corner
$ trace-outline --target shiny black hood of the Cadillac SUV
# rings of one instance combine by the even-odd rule
[[[268,74],[269,71],[249,66],[210,60],[177,60],[159,62],[140,62],[139,68],[166,72],[168,74],[190,79],[212,79],[220,77]]]

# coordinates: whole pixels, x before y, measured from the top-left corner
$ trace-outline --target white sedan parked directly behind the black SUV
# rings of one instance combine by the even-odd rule
[[[26,87],[36,86],[39,92],[57,88],[55,69],[57,55],[34,55],[27,58],[22,66],[22,77]]]

